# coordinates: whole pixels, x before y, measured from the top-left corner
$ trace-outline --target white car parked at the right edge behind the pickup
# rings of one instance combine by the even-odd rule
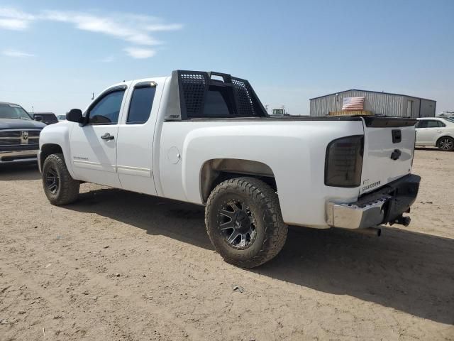
[[[441,151],[453,151],[454,121],[438,117],[418,119],[416,146],[435,146]]]

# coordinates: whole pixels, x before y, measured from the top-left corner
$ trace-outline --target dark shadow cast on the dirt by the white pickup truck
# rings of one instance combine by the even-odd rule
[[[66,207],[213,249],[201,206],[101,189],[82,193]],[[454,239],[398,228],[387,228],[379,238],[292,227],[279,256],[250,271],[454,324]]]

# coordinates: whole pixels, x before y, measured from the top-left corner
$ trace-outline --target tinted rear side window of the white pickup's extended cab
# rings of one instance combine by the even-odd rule
[[[135,87],[126,124],[143,124],[150,118],[156,87]]]

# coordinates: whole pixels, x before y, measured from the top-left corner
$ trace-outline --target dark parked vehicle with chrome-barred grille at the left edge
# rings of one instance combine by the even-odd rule
[[[0,164],[36,161],[44,126],[20,105],[0,102]]]

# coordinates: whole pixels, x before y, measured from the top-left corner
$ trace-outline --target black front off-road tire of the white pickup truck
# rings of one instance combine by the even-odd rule
[[[46,180],[49,170],[55,171],[58,175],[59,185],[55,193],[49,188]],[[63,154],[51,154],[43,165],[43,188],[46,197],[52,205],[67,205],[77,200],[80,183],[74,180],[66,168]]]

